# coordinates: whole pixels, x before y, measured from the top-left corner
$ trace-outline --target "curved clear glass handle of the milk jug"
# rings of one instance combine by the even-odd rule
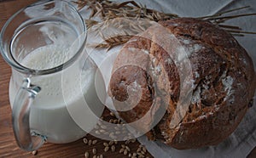
[[[32,151],[37,150],[46,141],[46,137],[31,132],[29,116],[33,100],[41,90],[40,87],[31,84],[26,78],[18,91],[12,110],[12,123],[15,139],[21,149]]]

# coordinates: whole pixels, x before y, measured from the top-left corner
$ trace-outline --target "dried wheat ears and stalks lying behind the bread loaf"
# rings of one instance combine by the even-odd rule
[[[87,7],[90,9],[90,18],[89,20],[85,20],[85,23],[88,28],[93,25],[98,25],[99,21],[92,20],[94,17],[100,17],[103,21],[101,25],[98,25],[99,28],[108,26],[109,20],[118,19],[118,18],[143,18],[146,20],[160,21],[160,20],[171,20],[179,18],[177,14],[166,14],[151,8],[147,8],[146,6],[140,5],[135,1],[127,1],[124,3],[116,3],[109,0],[78,0],[77,2],[73,2],[78,4],[78,8],[82,9]],[[233,36],[244,36],[244,34],[256,34],[256,32],[252,31],[241,31],[241,28],[236,25],[224,25],[226,20],[235,19],[242,16],[254,16],[256,14],[236,14],[230,16],[223,16],[224,14],[235,12],[237,10],[249,8],[250,6],[245,6],[241,8],[233,8],[225,12],[221,12],[218,14],[212,14],[210,16],[198,17],[201,20],[211,21],[213,24],[218,25],[223,28],[225,31],[229,31]],[[113,22],[113,21],[112,21]],[[118,22],[118,21],[117,21]],[[117,23],[118,24],[118,23]],[[112,24],[113,25],[113,24]],[[132,35],[136,35],[139,32],[142,32],[146,29],[140,24],[125,24],[125,25],[113,25],[116,28],[120,29],[124,27],[125,30],[132,31]],[[98,33],[102,34],[101,31]],[[126,33],[123,36],[117,37],[103,37],[105,43],[100,43],[96,45],[96,48],[113,48],[120,44],[124,44],[131,39],[131,34]]]

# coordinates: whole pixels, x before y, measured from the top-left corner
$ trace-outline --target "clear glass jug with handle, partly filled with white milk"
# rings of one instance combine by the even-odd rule
[[[103,105],[76,8],[65,1],[34,3],[7,21],[0,40],[12,68],[9,101],[20,148],[37,150],[46,140],[69,143],[89,133]]]

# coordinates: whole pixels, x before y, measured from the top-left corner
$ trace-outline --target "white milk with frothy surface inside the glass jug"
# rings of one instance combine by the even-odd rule
[[[34,70],[45,70],[65,63],[72,56],[72,51],[49,45],[33,50],[21,61],[21,65]],[[41,87],[41,91],[32,104],[32,130],[45,135],[51,143],[68,143],[83,137],[84,130],[90,132],[96,124],[96,116],[100,116],[103,110],[101,102],[96,97],[95,71],[96,67],[90,63],[84,65],[76,62],[65,70],[51,75],[33,76],[32,84]],[[18,72],[13,72],[9,84],[11,104],[14,103],[20,87],[14,81],[22,80],[17,80],[19,75],[16,73]],[[84,104],[84,98],[90,107]],[[68,111],[72,112],[73,117]],[[77,125],[73,119],[79,119],[83,125]],[[83,126],[84,130],[79,126]]]

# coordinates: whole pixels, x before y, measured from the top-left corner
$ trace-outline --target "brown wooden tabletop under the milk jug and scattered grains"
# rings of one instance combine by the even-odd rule
[[[0,0],[0,29],[9,17],[26,5],[36,2],[36,0]],[[98,143],[95,145],[84,144],[83,139],[80,139],[71,144],[44,144],[38,150],[37,155],[32,155],[32,152],[20,150],[16,143],[11,125],[11,110],[9,106],[9,77],[11,70],[3,58],[0,57],[0,157],[84,157],[85,151],[93,148],[99,149],[97,155],[102,154],[104,157],[124,157],[119,154],[119,148],[115,152],[104,152],[102,150],[103,140],[86,136],[88,139],[97,139]],[[120,142],[119,144],[123,144]],[[132,151],[136,151],[138,143],[129,144]],[[120,145],[116,145],[120,146]],[[90,156],[92,157],[92,156]],[[128,157],[126,155],[126,157]],[[256,148],[252,151],[248,158],[256,157]]]

